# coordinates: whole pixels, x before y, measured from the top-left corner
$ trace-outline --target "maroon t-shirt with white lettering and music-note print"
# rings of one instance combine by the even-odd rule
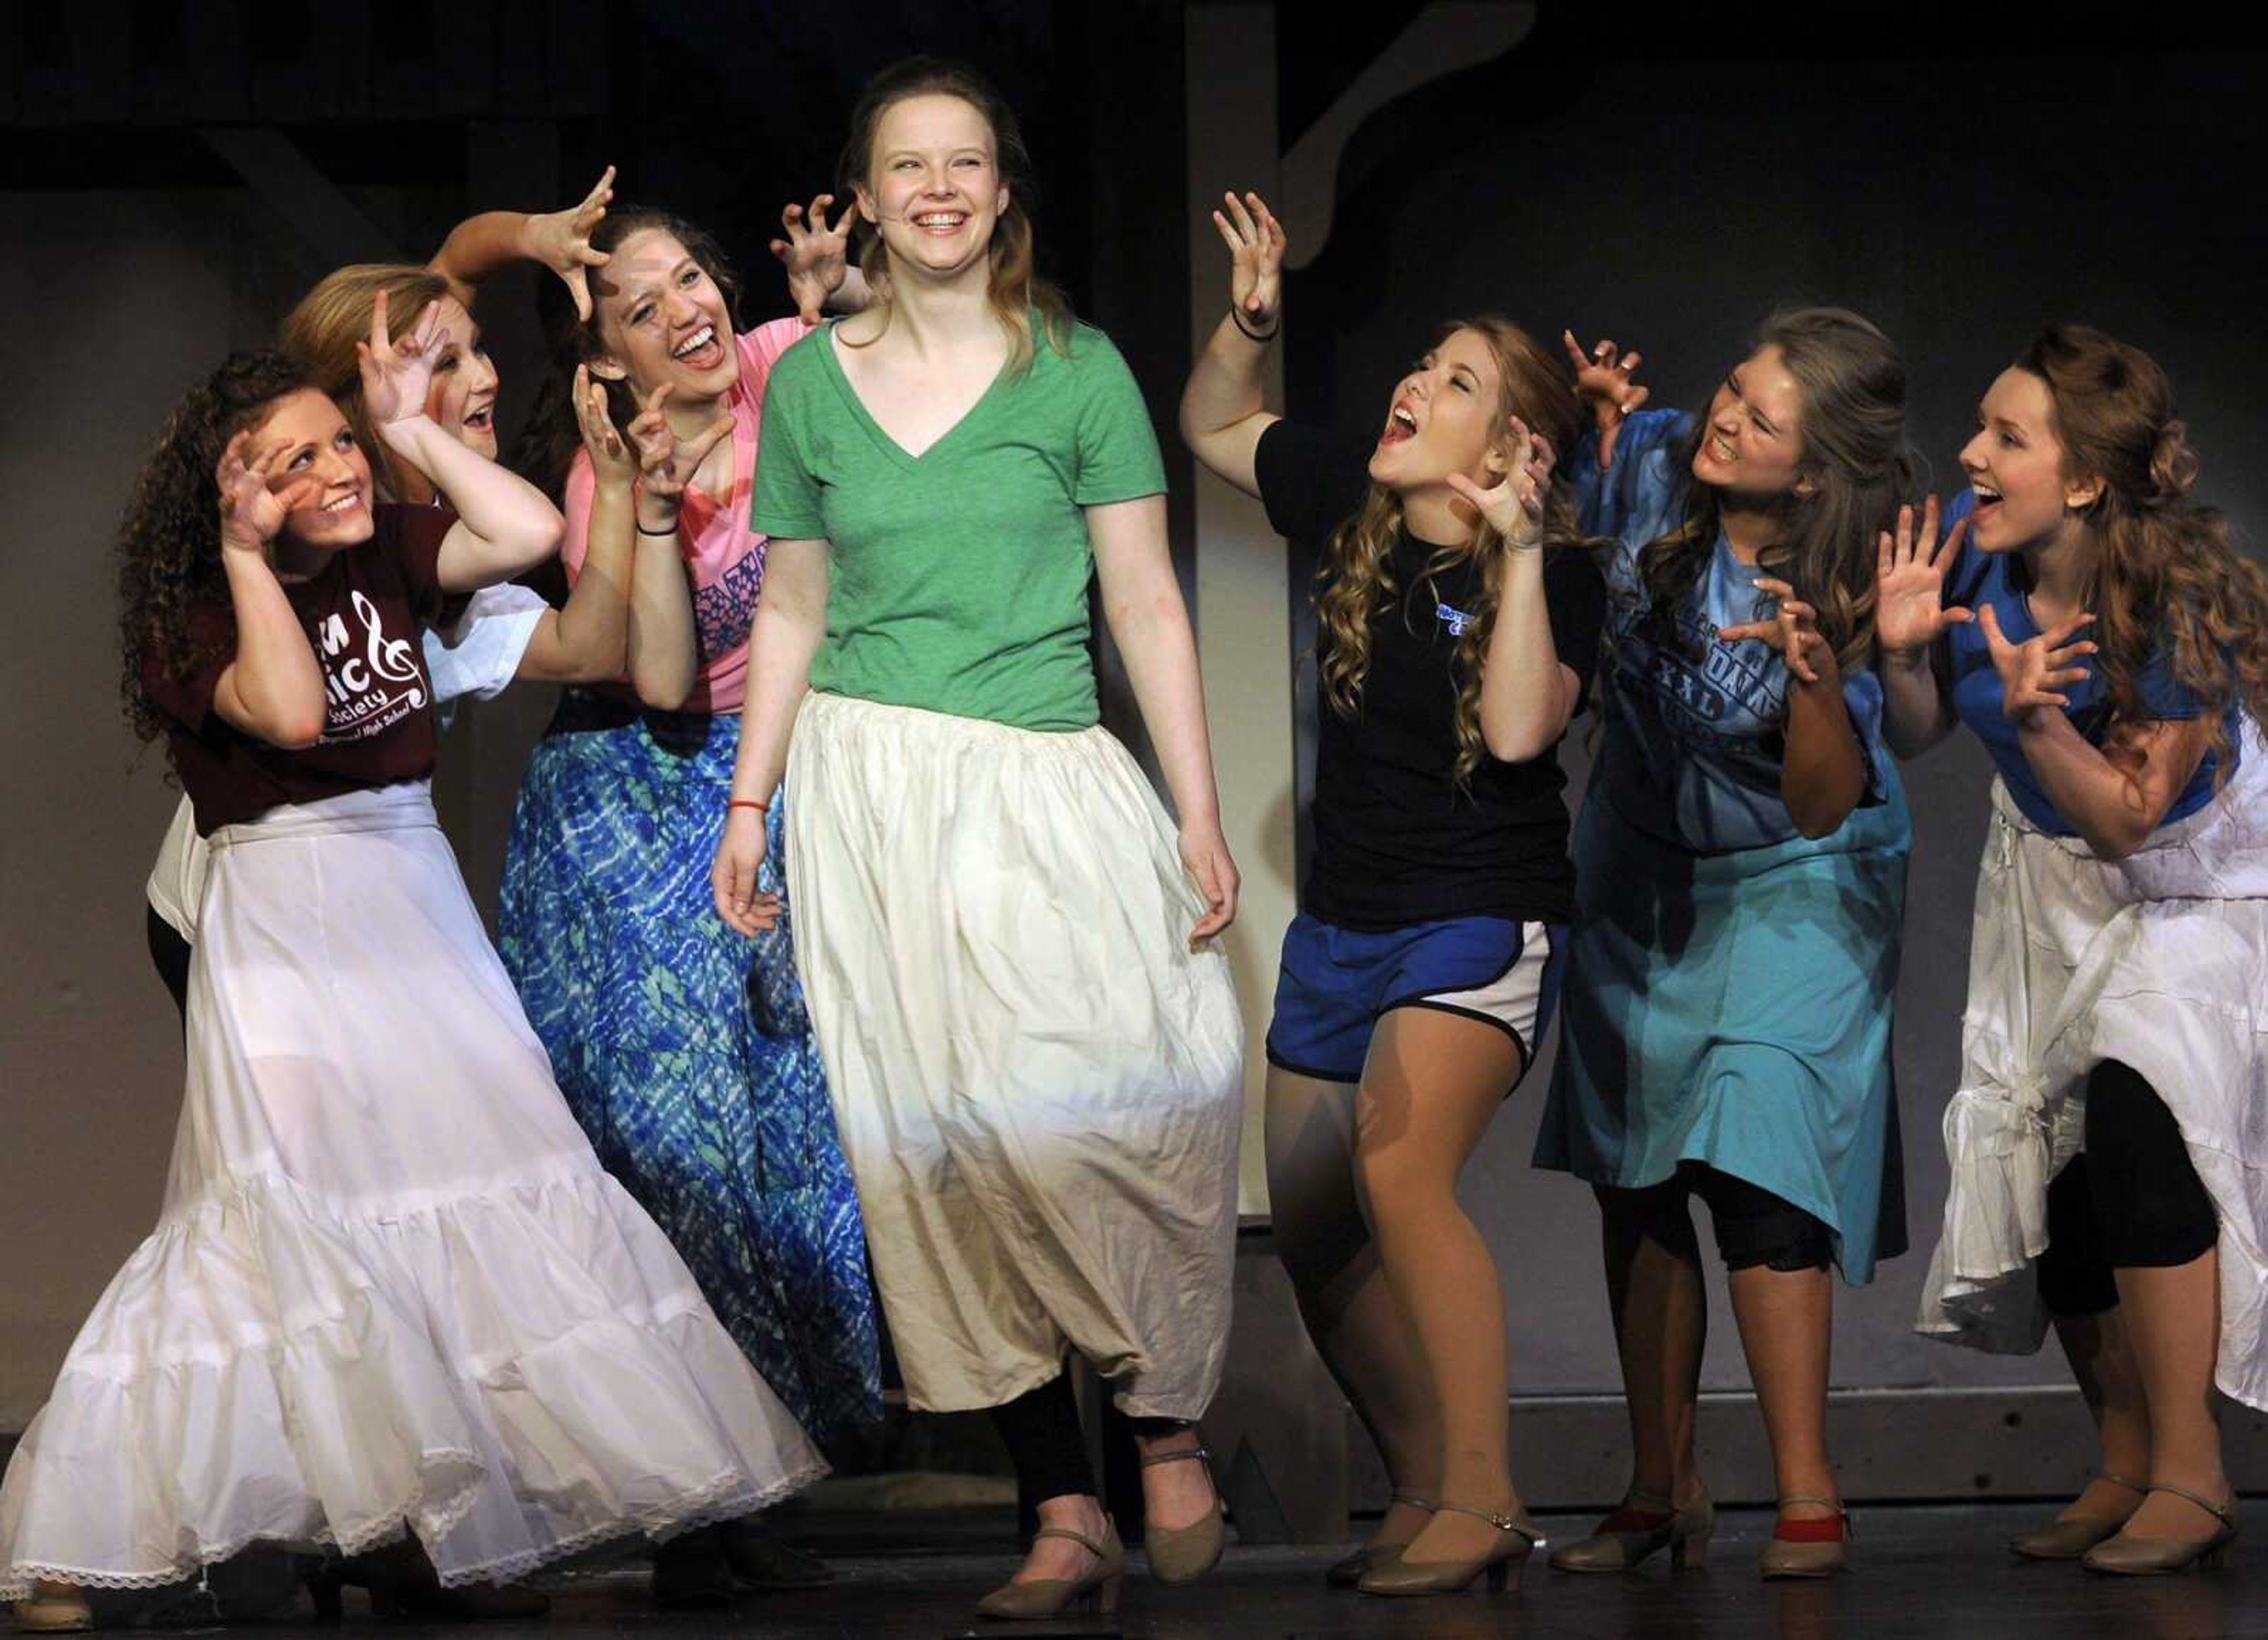
[[[422,633],[442,610],[440,544],[456,513],[379,506],[361,547],[284,587],[322,665],[322,739],[286,751],[245,735],[213,710],[222,649],[186,678],[143,658],[143,694],[172,719],[166,749],[197,810],[197,832],[256,819],[279,803],[361,792],[433,773],[433,683]],[[225,610],[191,617],[193,642],[229,628]]]

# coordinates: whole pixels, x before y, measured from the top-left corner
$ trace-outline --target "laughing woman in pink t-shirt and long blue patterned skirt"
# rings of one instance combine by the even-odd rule
[[[807,318],[744,329],[719,243],[646,206],[587,222],[585,302],[544,286],[553,370],[524,470],[562,497],[565,578],[581,594],[606,569],[606,474],[576,436],[572,383],[587,379],[617,417],[676,440],[676,488],[640,485],[626,526],[640,551],[669,556],[692,631],[667,656],[671,676],[633,656],[633,676],[560,696],[519,783],[497,905],[503,966],[569,1109],[816,1440],[882,1415],[866,1227],[789,935],[726,928],[705,885],[767,585],[769,547],[748,522],[764,390],[823,302],[864,295],[828,204],[789,206],[773,245]],[[719,1606],[737,1586],[830,1576],[737,1522],[676,1545],[655,1592]]]

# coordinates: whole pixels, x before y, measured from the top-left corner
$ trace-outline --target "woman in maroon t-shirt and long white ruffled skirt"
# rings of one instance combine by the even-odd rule
[[[213,860],[163,1214],[0,1486],[25,1629],[252,1542],[397,1545],[374,1604],[431,1604],[823,1468],[599,1168],[433,819],[420,633],[560,535],[426,415],[447,345],[379,299],[363,406],[454,510],[376,504],[306,367],[238,354],[120,531],[127,710]]]

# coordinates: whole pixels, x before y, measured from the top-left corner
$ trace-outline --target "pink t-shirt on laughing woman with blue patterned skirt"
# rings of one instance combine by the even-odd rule
[[[678,547],[694,578],[694,644],[701,671],[685,696],[687,712],[737,712],[748,692],[748,622],[764,590],[764,538],[748,529],[748,497],[755,488],[755,438],[764,422],[764,383],[789,347],[803,340],[803,320],[771,320],[735,338],[739,379],[726,395],[733,413],[733,488],[726,494],[685,490],[678,508]],[[596,481],[590,451],[578,449],[567,467],[567,542],[560,563],[572,583],[590,551],[590,497]],[[599,685],[631,696],[628,683]]]

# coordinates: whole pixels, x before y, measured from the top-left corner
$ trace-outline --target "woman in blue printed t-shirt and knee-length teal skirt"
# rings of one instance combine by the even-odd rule
[[[1867,547],[1912,483],[1905,367],[1842,308],[1765,322],[1703,415],[1583,356],[1583,524],[1615,538],[1603,733],[1574,828],[1560,1055],[1535,1164],[1592,1184],[1631,1488],[1563,1572],[1708,1549],[1694,1468],[1717,1229],[1765,1413],[1765,1576],[1846,1561],[1826,1452],[1835,1286],[1905,1248],[1889,1028],[1910,826],[1880,744]]]

